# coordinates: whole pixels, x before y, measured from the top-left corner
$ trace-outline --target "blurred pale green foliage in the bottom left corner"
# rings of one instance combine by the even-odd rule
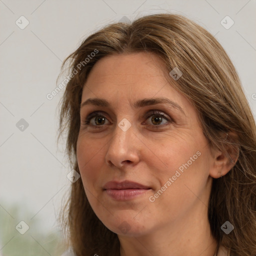
[[[65,250],[62,235],[56,225],[42,231],[42,220],[21,205],[7,206],[0,202],[0,256],[60,256]],[[15,226],[25,221],[29,229],[20,234]],[[44,221],[48,221],[45,217]],[[47,230],[47,229],[46,229]]]

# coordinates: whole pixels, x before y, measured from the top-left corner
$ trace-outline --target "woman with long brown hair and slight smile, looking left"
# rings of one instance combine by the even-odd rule
[[[73,252],[256,255],[255,121],[216,39],[154,14],[105,26],[67,60]]]

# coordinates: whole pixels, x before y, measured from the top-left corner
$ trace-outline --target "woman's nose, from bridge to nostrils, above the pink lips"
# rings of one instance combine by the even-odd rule
[[[109,141],[105,161],[110,167],[123,168],[126,165],[135,165],[139,161],[139,139],[131,127],[123,131],[116,125],[113,136]]]

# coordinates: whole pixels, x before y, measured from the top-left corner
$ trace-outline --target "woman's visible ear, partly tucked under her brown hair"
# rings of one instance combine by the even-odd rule
[[[211,166],[209,175],[213,178],[224,176],[236,163],[239,156],[239,147],[237,145],[238,136],[230,131],[222,133],[224,148],[220,150],[212,149],[213,166]]]

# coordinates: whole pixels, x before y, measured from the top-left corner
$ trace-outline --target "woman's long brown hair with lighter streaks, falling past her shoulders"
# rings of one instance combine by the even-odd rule
[[[238,155],[226,175],[213,179],[208,219],[212,235],[230,249],[231,255],[256,255],[255,121],[224,49],[204,28],[181,15],[153,14],[131,24],[106,25],[88,36],[64,60],[62,68],[69,61],[70,71],[77,71],[66,84],[59,122],[59,135],[67,130],[66,151],[71,168],[79,172],[76,161],[79,110],[90,69],[104,56],[141,51],[160,56],[169,71],[174,67],[182,71],[175,83],[170,76],[168,79],[193,103],[210,146],[226,152],[230,160]],[[90,54],[93,57],[84,61]],[[79,63],[82,63],[80,69]],[[234,226],[229,234],[220,228],[226,220]],[[93,212],[80,178],[71,185],[63,221],[77,256],[119,255],[117,235]]]

